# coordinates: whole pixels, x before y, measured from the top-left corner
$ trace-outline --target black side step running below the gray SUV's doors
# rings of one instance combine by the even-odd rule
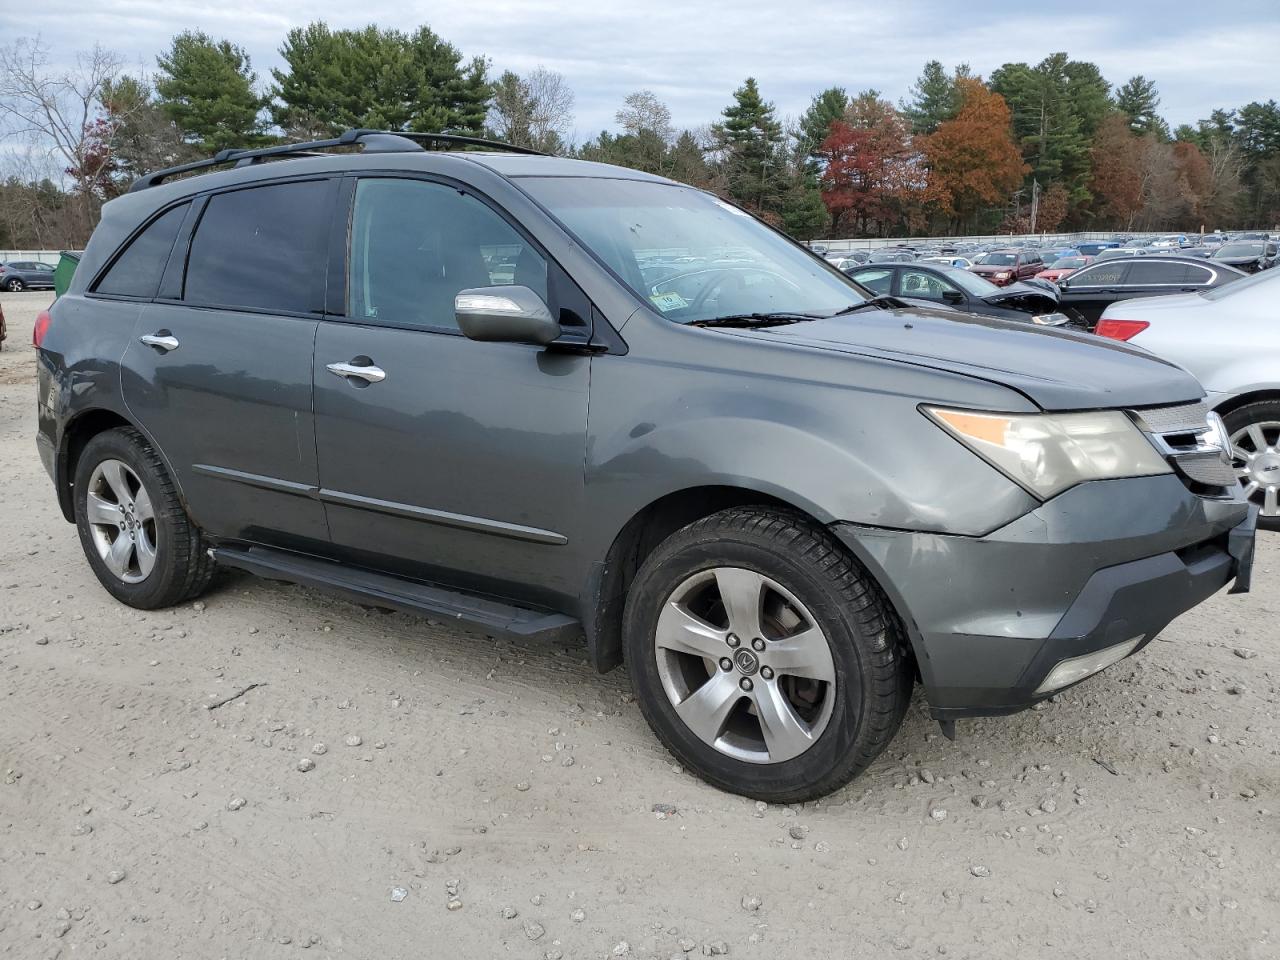
[[[355,603],[436,617],[486,634],[559,640],[582,632],[582,625],[563,613],[513,607],[488,596],[429,586],[287,550],[215,547],[210,554],[223,566],[246,570],[266,580],[314,586]]]

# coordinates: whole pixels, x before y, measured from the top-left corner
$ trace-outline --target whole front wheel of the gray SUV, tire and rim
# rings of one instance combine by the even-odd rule
[[[901,723],[913,671],[893,613],[831,535],[732,508],[672,534],[627,595],[645,719],[708,782],[791,803],[836,790]]]

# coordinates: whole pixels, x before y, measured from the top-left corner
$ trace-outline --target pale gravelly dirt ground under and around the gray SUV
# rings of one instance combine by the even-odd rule
[[[916,696],[764,808],[576,645],[234,573],[116,604],[32,439],[49,296],[0,302],[0,956],[1280,956],[1276,535],[1057,703],[951,744]]]

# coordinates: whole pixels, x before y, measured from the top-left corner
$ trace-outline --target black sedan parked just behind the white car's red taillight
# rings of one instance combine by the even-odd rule
[[[1062,312],[1092,329],[1102,311],[1119,300],[1197,293],[1242,276],[1235,268],[1192,257],[1144,256],[1100,259],[1064,276],[1057,285],[1062,291]]]

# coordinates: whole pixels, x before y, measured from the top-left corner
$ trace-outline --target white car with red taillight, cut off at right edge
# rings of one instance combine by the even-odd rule
[[[1204,387],[1260,525],[1280,530],[1280,270],[1199,293],[1112,303],[1094,333],[1149,349]]]

